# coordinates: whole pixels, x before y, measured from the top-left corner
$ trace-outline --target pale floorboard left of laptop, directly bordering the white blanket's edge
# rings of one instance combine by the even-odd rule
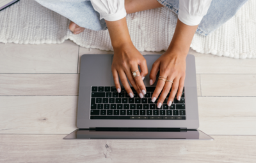
[[[0,43],[0,73],[77,73],[79,46]]]

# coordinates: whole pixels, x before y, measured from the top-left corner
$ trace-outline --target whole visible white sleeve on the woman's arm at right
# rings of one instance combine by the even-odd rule
[[[180,0],[179,20],[186,25],[200,24],[212,0]]]

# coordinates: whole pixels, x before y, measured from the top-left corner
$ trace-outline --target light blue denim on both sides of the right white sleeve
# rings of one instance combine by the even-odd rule
[[[159,3],[179,14],[179,0],[157,0]],[[183,0],[182,0],[183,1]],[[207,36],[232,18],[248,0],[212,0],[211,6],[204,16],[196,32]]]

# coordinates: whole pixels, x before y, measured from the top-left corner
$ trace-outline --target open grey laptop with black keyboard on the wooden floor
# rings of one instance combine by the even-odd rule
[[[148,72],[161,55],[143,55]],[[176,98],[160,109],[151,96],[156,88],[143,82],[147,94],[141,99],[134,89],[131,98],[124,87],[116,91],[111,73],[113,55],[82,55],[77,108],[77,129],[64,139],[205,139],[199,127],[195,57],[186,58],[186,79],[180,101]],[[159,74],[157,74],[159,75]],[[120,82],[121,83],[121,82]],[[131,84],[130,84],[131,85]],[[132,88],[132,87],[131,87]]]

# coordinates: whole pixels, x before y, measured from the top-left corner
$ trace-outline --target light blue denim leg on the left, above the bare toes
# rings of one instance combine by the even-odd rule
[[[80,27],[100,31],[107,29],[104,19],[94,10],[88,0],[35,0],[46,8],[68,18]]]

